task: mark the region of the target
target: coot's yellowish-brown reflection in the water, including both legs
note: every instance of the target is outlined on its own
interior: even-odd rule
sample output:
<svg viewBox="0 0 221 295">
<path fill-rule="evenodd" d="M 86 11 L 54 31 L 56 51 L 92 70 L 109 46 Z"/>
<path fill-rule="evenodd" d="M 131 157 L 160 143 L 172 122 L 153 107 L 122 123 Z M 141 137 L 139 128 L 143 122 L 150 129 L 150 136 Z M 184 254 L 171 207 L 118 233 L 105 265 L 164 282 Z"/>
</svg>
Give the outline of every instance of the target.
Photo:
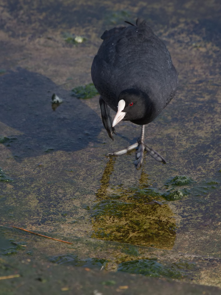
<svg viewBox="0 0 221 295">
<path fill-rule="evenodd" d="M 109 159 L 100 180 L 101 186 L 96 194 L 98 203 L 94 206 L 92 237 L 172 249 L 176 224 L 168 203 L 150 187 L 144 169 L 137 186 L 110 187 L 114 162 L 114 158 Z"/>
</svg>

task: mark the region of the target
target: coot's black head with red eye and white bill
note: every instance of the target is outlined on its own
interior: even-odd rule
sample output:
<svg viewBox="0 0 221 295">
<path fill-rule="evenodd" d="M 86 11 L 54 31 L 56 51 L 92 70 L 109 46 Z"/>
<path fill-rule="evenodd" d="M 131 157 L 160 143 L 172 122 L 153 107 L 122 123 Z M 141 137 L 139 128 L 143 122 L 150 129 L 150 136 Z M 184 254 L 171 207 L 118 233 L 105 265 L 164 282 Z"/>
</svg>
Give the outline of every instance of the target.
<svg viewBox="0 0 221 295">
<path fill-rule="evenodd" d="M 113 120 L 114 127 L 122 119 L 123 121 L 138 121 L 143 124 L 142 120 L 151 112 L 152 105 L 149 96 L 138 89 L 123 90 L 118 97 L 118 111 Z"/>
</svg>

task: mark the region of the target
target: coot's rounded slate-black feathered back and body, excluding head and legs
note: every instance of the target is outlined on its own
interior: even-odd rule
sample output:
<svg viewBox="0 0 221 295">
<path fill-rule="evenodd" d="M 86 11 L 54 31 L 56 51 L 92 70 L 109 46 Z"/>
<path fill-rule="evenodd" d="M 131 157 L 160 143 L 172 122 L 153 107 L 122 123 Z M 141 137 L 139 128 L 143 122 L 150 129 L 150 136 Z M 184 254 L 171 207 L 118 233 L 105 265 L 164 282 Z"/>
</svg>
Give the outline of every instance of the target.
<svg viewBox="0 0 221 295">
<path fill-rule="evenodd" d="M 137 26 L 113 28 L 105 31 L 101 39 L 103 43 L 91 68 L 96 89 L 115 111 L 121 91 L 144 91 L 156 106 L 151 122 L 177 88 L 177 72 L 166 45 L 139 19 Z"/>
</svg>

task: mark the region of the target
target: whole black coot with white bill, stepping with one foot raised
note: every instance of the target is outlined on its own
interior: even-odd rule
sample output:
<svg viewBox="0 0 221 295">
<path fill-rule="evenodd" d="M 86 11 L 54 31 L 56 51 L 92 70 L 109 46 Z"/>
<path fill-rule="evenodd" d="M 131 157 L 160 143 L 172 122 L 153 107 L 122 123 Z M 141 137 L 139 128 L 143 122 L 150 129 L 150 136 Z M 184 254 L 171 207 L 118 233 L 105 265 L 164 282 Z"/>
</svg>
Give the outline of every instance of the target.
<svg viewBox="0 0 221 295">
<path fill-rule="evenodd" d="M 174 97 L 178 79 L 166 45 L 146 22 L 137 19 L 136 26 L 128 24 L 103 33 L 91 77 L 100 94 L 102 122 L 110 138 L 121 120 L 142 125 L 138 142 L 110 154 L 121 155 L 138 147 L 134 163 L 139 168 L 144 150 L 166 163 L 144 143 L 144 125 L 153 121 Z M 117 112 L 113 123 L 108 106 Z"/>
</svg>

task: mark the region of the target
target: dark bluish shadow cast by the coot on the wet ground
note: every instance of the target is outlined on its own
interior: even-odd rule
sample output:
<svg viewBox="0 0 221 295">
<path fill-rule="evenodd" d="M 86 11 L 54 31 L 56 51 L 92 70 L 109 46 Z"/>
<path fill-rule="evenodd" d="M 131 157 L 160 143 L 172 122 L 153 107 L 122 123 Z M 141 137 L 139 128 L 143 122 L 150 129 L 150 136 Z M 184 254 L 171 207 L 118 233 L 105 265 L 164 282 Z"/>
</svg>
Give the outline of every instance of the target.
<svg viewBox="0 0 221 295">
<path fill-rule="evenodd" d="M 52 110 L 53 93 L 63 103 Z M 23 135 L 1 137 L 16 159 L 63 150 L 76 151 L 96 141 L 98 115 L 49 78 L 19 68 L 0 77 L 0 121 Z M 0 131 L 0 136 L 1 136 Z"/>
</svg>

